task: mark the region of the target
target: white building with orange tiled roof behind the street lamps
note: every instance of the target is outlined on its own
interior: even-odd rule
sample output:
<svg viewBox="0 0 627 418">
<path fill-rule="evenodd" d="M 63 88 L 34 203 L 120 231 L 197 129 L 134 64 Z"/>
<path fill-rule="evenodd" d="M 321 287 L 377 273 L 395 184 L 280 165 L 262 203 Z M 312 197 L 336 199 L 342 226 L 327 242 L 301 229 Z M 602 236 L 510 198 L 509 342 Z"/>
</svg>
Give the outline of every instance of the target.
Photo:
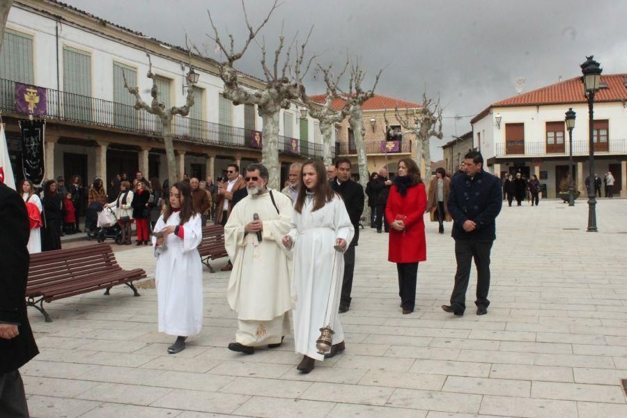
<svg viewBox="0 0 627 418">
<path fill-rule="evenodd" d="M 594 171 L 616 179 L 614 195 L 627 196 L 627 75 L 604 75 L 594 100 Z M 573 162 L 576 188 L 585 194 L 589 173 L 588 106 L 578 78 L 539 88 L 491 104 L 472 119 L 474 147 L 486 169 L 535 174 L 554 198 L 568 175 L 571 141 L 564 123 L 569 108 L 576 112 Z M 605 194 L 603 194 L 605 196 Z"/>
</svg>

